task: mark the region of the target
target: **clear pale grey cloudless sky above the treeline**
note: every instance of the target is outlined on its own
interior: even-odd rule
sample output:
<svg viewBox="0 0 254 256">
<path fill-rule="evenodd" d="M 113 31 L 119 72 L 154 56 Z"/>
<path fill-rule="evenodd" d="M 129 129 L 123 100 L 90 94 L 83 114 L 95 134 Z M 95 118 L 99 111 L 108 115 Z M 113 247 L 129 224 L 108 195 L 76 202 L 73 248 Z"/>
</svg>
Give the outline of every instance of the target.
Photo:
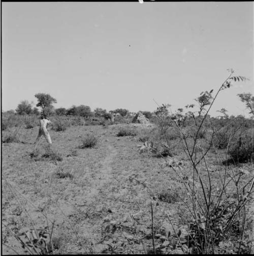
<svg viewBox="0 0 254 256">
<path fill-rule="evenodd" d="M 248 116 L 253 92 L 253 2 L 2 3 L 2 111 L 36 93 L 55 108 L 172 110 L 221 91 L 210 114 Z M 156 101 L 156 103 L 155 103 Z"/>
</svg>

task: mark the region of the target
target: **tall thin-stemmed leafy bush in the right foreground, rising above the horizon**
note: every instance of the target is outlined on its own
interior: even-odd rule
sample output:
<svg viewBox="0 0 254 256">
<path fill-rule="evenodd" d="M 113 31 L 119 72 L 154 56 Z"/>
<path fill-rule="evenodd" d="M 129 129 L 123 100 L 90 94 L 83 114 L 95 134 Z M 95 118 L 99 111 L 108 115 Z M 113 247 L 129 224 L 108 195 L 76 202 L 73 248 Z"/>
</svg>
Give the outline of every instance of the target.
<svg viewBox="0 0 254 256">
<path fill-rule="evenodd" d="M 233 76 L 233 70 L 220 86 L 215 96 L 212 97 L 211 90 L 205 92 L 202 99 L 207 99 L 206 104 L 201 104 L 199 111 L 200 120 L 195 119 L 195 134 L 190 136 L 192 143 L 189 143 L 187 136 L 182 127 L 174 120 L 177 127 L 183 150 L 192 164 L 192 178 L 185 178 L 182 172 L 181 162 L 168 162 L 166 166 L 172 168 L 183 184 L 186 191 L 186 198 L 182 198 L 184 218 L 182 218 L 183 228 L 181 232 L 176 232 L 171 218 L 168 216 L 169 222 L 172 224 L 175 236 L 178 240 L 178 247 L 183 253 L 249 253 L 250 246 L 245 240 L 245 231 L 247 229 L 246 222 L 248 203 L 251 199 L 251 193 L 254 186 L 254 177 L 249 180 L 243 178 L 243 173 L 236 170 L 230 170 L 227 166 L 221 164 L 217 158 L 217 171 L 219 179 L 216 179 L 216 186 L 213 184 L 211 168 L 207 162 L 207 153 L 209 152 L 213 138 L 214 129 L 210 135 L 210 142 L 207 148 L 203 148 L 199 143 L 200 133 L 204 129 L 204 123 L 207 115 L 221 90 L 231 87 L 233 81 L 245 81 L 243 76 Z M 205 96 L 208 95 L 209 98 Z M 208 110 L 204 106 L 209 106 Z M 204 112 L 204 116 L 201 113 Z M 194 113 L 193 113 L 193 117 Z M 207 127 L 206 127 L 207 128 Z M 212 127 L 211 127 L 212 128 Z M 234 156 L 238 161 L 246 160 L 251 153 L 253 154 L 253 137 L 241 139 L 241 145 L 235 146 L 229 150 L 230 155 Z M 248 143 L 247 143 L 248 141 Z M 247 157 L 248 156 L 248 157 Z M 180 216 L 179 216 L 180 217 Z M 228 246 L 230 244 L 232 246 Z M 154 248 L 155 251 L 155 248 Z"/>
</svg>

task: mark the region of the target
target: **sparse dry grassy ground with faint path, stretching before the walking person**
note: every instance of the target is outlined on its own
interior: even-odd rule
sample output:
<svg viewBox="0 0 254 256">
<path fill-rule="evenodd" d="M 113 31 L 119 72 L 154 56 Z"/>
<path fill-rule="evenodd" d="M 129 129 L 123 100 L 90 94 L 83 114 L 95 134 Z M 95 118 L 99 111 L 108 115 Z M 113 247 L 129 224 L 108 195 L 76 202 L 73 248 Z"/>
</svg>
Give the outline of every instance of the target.
<svg viewBox="0 0 254 256">
<path fill-rule="evenodd" d="M 2 233 L 3 243 L 8 245 L 3 246 L 3 254 L 24 253 L 11 231 L 17 234 L 45 227 L 47 221 L 49 226 L 54 222 L 54 253 L 150 252 L 151 202 L 154 234 L 170 229 L 168 216 L 176 228 L 181 226 L 183 185 L 171 168 L 162 168 L 163 158 L 138 151 L 139 138 L 151 127 L 132 125 L 136 136 L 118 137 L 121 126 L 50 131 L 53 150 L 62 157 L 58 162 L 42 157 L 47 146 L 44 138 L 37 147 L 38 156 L 31 157 L 38 127 L 21 128 L 20 142 L 2 144 Z M 4 131 L 3 137 L 8 133 Z M 82 138 L 92 133 L 99 139 L 96 147 L 80 148 Z M 174 159 L 182 162 L 188 176 L 190 164 L 181 149 L 177 150 Z M 216 184 L 219 177 L 213 153 L 209 165 Z M 242 168 L 246 180 L 253 176 L 251 165 Z M 155 247 L 172 252 L 161 246 L 164 242 L 155 237 Z"/>
</svg>

